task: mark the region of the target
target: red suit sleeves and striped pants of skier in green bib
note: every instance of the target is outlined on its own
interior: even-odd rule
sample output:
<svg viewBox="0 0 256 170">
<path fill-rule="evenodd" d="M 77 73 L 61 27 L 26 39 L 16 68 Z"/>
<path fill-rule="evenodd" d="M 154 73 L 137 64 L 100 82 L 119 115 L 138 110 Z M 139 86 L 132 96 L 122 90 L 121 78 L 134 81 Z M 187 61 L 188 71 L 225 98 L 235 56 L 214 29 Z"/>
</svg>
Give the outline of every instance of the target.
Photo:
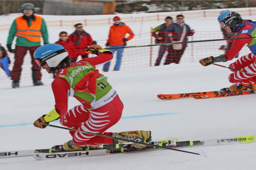
<svg viewBox="0 0 256 170">
<path fill-rule="evenodd" d="M 98 65 L 109 62 L 112 58 L 113 54 L 101 53 L 99 56 L 85 58 L 82 61 L 86 61 L 96 68 Z M 124 107 L 118 95 L 116 95 L 112 101 L 96 109 L 88 110 L 82 104 L 75 106 L 68 111 L 69 83 L 63 78 L 55 78 L 52 82 L 52 90 L 56 103 L 55 109 L 60 115 L 60 123 L 62 125 L 72 129 L 111 136 L 112 133 L 105 132 L 105 130 L 109 129 L 119 121 Z M 73 137 L 73 143 L 79 146 L 113 144 L 113 141 L 110 138 L 74 131 L 70 131 L 70 134 Z"/>
</svg>

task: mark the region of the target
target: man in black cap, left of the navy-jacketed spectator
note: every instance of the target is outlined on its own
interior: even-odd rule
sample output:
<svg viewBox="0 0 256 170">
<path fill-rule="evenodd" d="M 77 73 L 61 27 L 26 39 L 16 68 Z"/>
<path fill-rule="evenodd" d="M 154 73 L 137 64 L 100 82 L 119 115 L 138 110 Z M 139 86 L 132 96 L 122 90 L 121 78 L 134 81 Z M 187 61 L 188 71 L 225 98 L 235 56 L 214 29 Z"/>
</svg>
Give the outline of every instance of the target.
<svg viewBox="0 0 256 170">
<path fill-rule="evenodd" d="M 172 24 L 172 17 L 170 17 L 170 16 L 166 17 L 165 21 L 166 21 L 165 23 L 163 23 L 151 30 L 152 36 L 154 36 L 156 38 L 156 40 L 155 40 L 156 44 L 165 44 L 165 39 L 166 39 L 165 29 L 170 24 Z M 158 32 L 158 34 L 156 34 L 156 32 Z M 167 51 L 167 50 L 168 50 L 167 46 L 165 46 L 165 45 L 160 46 L 155 66 L 160 65 L 161 59 L 162 59 L 163 55 L 165 54 L 165 51 Z"/>
</svg>

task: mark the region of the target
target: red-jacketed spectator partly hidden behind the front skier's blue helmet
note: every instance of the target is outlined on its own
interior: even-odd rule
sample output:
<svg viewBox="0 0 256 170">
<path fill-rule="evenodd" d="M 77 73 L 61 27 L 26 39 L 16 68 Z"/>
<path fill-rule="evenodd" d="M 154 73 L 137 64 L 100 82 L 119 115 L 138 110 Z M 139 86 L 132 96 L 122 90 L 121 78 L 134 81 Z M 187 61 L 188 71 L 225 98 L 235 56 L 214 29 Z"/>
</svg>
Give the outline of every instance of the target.
<svg viewBox="0 0 256 170">
<path fill-rule="evenodd" d="M 68 39 L 68 33 L 66 31 L 61 31 L 59 33 L 59 37 L 59 40 L 56 41 L 55 44 L 59 44 L 68 50 L 70 60 L 75 61 L 77 58 L 75 47 L 74 44 Z"/>
</svg>

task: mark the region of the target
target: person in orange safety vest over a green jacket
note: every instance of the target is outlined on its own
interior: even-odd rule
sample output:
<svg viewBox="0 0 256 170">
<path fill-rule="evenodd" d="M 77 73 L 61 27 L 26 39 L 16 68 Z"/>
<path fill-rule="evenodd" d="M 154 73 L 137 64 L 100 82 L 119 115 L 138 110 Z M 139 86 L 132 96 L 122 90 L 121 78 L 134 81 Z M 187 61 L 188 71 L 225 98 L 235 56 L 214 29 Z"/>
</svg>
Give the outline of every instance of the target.
<svg viewBox="0 0 256 170">
<path fill-rule="evenodd" d="M 41 37 L 44 44 L 48 44 L 48 32 L 42 17 L 34 15 L 34 4 L 25 3 L 21 6 L 23 16 L 17 17 L 10 28 L 7 39 L 7 48 L 14 53 L 14 66 L 11 71 L 12 88 L 19 87 L 22 64 L 27 50 L 32 58 L 32 79 L 34 86 L 43 85 L 41 82 L 41 68 L 33 60 L 34 51 L 41 45 Z M 12 41 L 17 36 L 15 49 L 12 49 Z"/>
</svg>

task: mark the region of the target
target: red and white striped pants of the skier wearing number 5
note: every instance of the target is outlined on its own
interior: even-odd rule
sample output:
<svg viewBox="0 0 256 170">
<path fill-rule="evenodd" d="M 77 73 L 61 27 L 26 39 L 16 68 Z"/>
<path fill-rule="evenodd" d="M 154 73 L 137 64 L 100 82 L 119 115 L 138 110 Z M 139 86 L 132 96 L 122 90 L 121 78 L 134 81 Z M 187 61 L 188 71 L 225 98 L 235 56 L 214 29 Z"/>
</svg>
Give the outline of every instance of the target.
<svg viewBox="0 0 256 170">
<path fill-rule="evenodd" d="M 111 102 L 93 110 L 88 110 L 83 105 L 75 106 L 69 110 L 67 115 L 60 118 L 60 123 L 68 128 L 111 136 L 111 132 L 105 131 L 120 120 L 123 107 L 122 101 L 116 95 Z M 75 145 L 113 144 L 110 138 L 75 131 L 70 131 L 69 133 L 73 137 Z"/>
</svg>

